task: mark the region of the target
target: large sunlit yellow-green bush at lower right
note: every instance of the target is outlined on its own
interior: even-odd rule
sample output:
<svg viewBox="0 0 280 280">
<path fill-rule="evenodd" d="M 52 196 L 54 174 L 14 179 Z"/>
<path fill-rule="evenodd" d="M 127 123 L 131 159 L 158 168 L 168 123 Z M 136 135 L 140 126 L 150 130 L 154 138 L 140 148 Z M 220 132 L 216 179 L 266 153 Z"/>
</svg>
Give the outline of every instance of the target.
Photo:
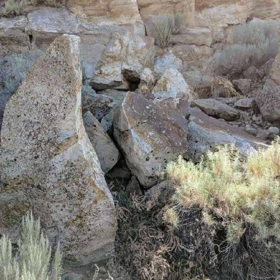
<svg viewBox="0 0 280 280">
<path fill-rule="evenodd" d="M 208 151 L 197 165 L 179 157 L 166 172 L 178 207 L 201 209 L 201 220 L 219 232 L 225 274 L 279 276 L 280 138 L 246 159 L 233 146 Z"/>
</svg>

